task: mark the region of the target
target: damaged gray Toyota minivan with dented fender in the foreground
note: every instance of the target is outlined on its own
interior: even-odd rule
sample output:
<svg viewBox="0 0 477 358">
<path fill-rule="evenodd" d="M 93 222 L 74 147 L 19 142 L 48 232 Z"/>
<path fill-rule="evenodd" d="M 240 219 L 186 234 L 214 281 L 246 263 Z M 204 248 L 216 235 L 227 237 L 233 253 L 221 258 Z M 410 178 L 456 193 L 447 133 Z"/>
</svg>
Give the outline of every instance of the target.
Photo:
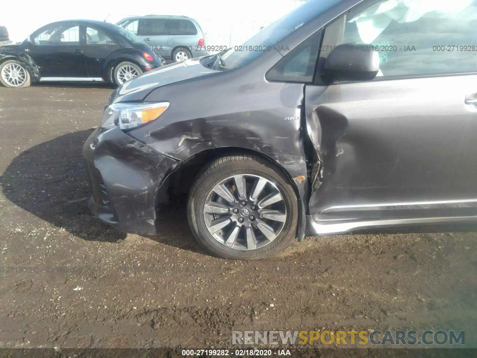
<svg viewBox="0 0 477 358">
<path fill-rule="evenodd" d="M 475 221 L 476 15 L 475 0 L 309 0 L 241 46 L 126 82 L 83 147 L 91 210 L 154 235 L 188 193 L 192 233 L 229 259 Z"/>
</svg>

